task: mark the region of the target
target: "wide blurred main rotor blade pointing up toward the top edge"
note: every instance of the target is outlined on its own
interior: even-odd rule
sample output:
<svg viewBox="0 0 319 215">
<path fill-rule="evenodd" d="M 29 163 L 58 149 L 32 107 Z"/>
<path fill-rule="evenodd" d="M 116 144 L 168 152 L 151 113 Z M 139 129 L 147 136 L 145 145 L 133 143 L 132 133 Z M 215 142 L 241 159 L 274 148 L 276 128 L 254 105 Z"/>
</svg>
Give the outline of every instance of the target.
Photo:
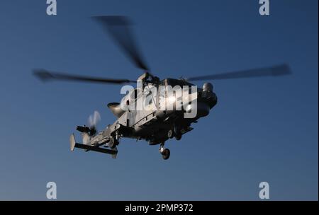
<svg viewBox="0 0 319 215">
<path fill-rule="evenodd" d="M 93 16 L 94 20 L 98 21 L 111 34 L 113 40 L 116 41 L 125 54 L 128 55 L 131 61 L 138 68 L 145 71 L 150 71 L 144 59 L 142 59 L 140 50 L 136 45 L 136 40 L 133 36 L 130 25 L 132 23 L 125 16 Z"/>
</svg>

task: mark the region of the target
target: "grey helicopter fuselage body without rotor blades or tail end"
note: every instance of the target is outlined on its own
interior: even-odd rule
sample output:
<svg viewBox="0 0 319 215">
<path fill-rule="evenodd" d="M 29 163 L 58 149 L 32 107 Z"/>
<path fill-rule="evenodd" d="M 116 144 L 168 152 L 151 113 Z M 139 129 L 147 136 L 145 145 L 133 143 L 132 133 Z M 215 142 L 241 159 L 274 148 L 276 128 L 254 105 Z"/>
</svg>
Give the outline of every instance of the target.
<svg viewBox="0 0 319 215">
<path fill-rule="evenodd" d="M 164 79 L 158 84 L 149 83 L 149 86 L 157 88 L 155 98 L 161 96 L 159 86 L 194 86 L 184 80 L 179 79 Z M 201 117 L 209 114 L 211 108 L 216 105 L 217 97 L 213 93 L 211 83 L 204 83 L 203 88 L 197 88 L 196 96 L 196 115 L 191 118 L 184 117 L 184 112 L 190 111 L 182 108 L 181 110 L 159 110 L 161 100 L 155 99 L 155 110 L 123 110 L 121 103 L 130 104 L 138 100 L 136 89 L 134 93 L 128 93 L 121 100 L 121 103 L 108 103 L 108 108 L 111 109 L 114 115 L 118 118 L 116 122 L 108 125 L 102 136 L 113 136 L 115 139 L 128 137 L 133 139 L 145 139 L 150 145 L 162 144 L 167 139 L 175 136 L 176 139 L 181 139 L 181 135 L 191 131 L 191 123 L 197 122 Z M 167 94 L 164 94 L 164 96 Z M 148 95 L 152 96 L 152 95 Z M 191 96 L 190 96 L 191 98 Z M 168 102 L 168 98 L 162 101 Z M 179 98 L 176 98 L 179 100 Z M 192 102 L 192 101 L 191 101 Z M 175 107 L 174 107 L 175 108 Z M 170 133 L 169 133 L 170 132 Z M 98 138 L 100 139 L 100 138 Z M 92 139 L 93 140 L 93 139 Z"/>
</svg>

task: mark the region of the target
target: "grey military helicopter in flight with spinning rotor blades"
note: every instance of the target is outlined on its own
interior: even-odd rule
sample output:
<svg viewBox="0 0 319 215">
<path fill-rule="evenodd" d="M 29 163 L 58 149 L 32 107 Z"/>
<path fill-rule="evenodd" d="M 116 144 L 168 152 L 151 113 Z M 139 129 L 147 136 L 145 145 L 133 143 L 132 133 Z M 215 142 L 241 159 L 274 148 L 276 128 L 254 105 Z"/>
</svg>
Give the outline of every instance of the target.
<svg viewBox="0 0 319 215">
<path fill-rule="evenodd" d="M 212 74 L 206 76 L 194 76 L 183 79 L 162 79 L 150 72 L 150 68 L 142 59 L 140 50 L 136 45 L 133 37 L 133 31 L 130 26 L 128 17 L 125 16 L 94 16 L 94 21 L 105 28 L 105 30 L 111 35 L 113 40 L 119 47 L 125 52 L 128 58 L 137 66 L 142 69 L 144 73 L 138 78 L 138 83 L 141 83 L 142 89 L 152 88 L 158 89 L 159 86 L 194 86 L 189 81 L 204 81 L 204 80 L 218 80 L 218 79 L 240 79 L 260 76 L 283 76 L 291 74 L 289 66 L 287 64 L 280 64 L 276 66 L 270 66 L 260 69 L 249 69 L 244 71 L 234 71 L 223 74 Z M 35 69 L 33 74 L 42 81 L 85 81 L 92 83 L 108 83 L 108 84 L 125 84 L 136 83 L 135 80 L 128 79 L 106 79 L 93 76 L 79 76 L 74 74 L 65 74 L 56 71 L 47 71 L 45 69 Z M 193 128 L 192 123 L 198 122 L 201 117 L 206 117 L 210 110 L 217 103 L 217 96 L 213 92 L 213 85 L 211 83 L 203 83 L 202 88 L 197 88 L 196 92 L 196 116 L 192 118 L 185 118 L 184 113 L 189 112 L 192 108 L 191 105 L 187 105 L 187 108 L 181 108 L 181 110 L 159 110 L 156 109 L 159 102 L 159 97 L 164 98 L 164 102 L 168 102 L 170 98 L 167 93 L 161 94 L 161 91 L 157 91 L 157 98 L 155 95 L 147 93 L 146 97 L 152 97 L 151 103 L 155 106 L 155 109 L 151 110 L 123 110 L 121 108 L 124 105 L 134 102 L 138 99 L 137 88 L 133 89 L 123 97 L 121 103 L 108 103 L 108 108 L 116 116 L 117 120 L 113 124 L 109 124 L 101 132 L 96 130 L 96 119 L 99 118 L 99 114 L 94 114 L 91 118 L 89 126 L 77 126 L 77 131 L 82 133 L 83 143 L 77 143 L 74 134 L 69 137 L 69 144 L 71 151 L 74 148 L 84 149 L 85 151 L 98 151 L 101 153 L 111 154 L 112 158 L 116 158 L 118 153 L 117 146 L 120 143 L 120 139 L 123 137 L 133 139 L 144 139 L 148 141 L 150 145 L 159 144 L 159 153 L 164 160 L 167 160 L 170 156 L 169 149 L 164 148 L 164 142 L 168 139 L 175 138 L 181 139 L 181 136 L 190 132 Z M 175 95 L 176 97 L 176 95 Z M 174 100 L 177 100 L 175 98 Z M 85 138 L 84 138 L 85 137 Z"/>
</svg>

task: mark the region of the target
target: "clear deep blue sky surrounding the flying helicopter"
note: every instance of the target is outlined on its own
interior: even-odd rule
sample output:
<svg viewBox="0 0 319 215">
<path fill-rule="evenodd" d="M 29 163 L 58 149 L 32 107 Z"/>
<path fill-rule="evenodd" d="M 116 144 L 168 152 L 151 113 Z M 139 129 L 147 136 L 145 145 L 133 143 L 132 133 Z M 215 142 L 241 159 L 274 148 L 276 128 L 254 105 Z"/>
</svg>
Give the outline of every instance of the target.
<svg viewBox="0 0 319 215">
<path fill-rule="evenodd" d="M 61 1 L 0 3 L 0 199 L 318 199 L 318 1 Z M 121 86 L 41 83 L 33 68 L 136 79 L 90 16 L 125 15 L 152 71 L 166 77 L 288 63 L 293 75 L 213 81 L 218 105 L 166 146 L 122 139 L 118 158 L 69 151 L 69 135 L 94 110 L 99 128 Z M 195 82 L 199 86 L 201 81 Z M 77 139 L 80 136 L 77 134 Z"/>
</svg>

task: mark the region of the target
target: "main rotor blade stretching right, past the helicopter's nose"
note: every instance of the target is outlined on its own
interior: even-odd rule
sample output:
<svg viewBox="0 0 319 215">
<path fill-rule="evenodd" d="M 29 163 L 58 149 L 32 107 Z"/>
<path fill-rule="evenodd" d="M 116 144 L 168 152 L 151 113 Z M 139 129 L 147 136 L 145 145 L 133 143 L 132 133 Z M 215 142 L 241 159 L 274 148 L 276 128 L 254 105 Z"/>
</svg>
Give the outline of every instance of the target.
<svg viewBox="0 0 319 215">
<path fill-rule="evenodd" d="M 222 74 L 214 74 L 208 76 L 194 76 L 186 79 L 187 81 L 199 80 L 220 80 L 220 79 L 242 79 L 262 76 L 284 76 L 291 74 L 291 70 L 287 64 L 276 65 L 259 69 L 248 69 L 242 71 L 233 71 Z"/>
</svg>

